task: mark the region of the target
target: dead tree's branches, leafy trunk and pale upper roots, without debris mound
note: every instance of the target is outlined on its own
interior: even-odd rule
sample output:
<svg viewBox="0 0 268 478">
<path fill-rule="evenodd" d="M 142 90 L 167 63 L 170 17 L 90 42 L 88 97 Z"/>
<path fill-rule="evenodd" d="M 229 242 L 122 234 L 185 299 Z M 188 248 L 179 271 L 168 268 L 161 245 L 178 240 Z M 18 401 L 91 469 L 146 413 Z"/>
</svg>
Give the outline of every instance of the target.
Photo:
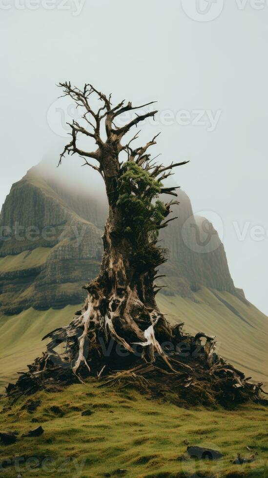
<svg viewBox="0 0 268 478">
<path fill-rule="evenodd" d="M 148 152 L 150 146 L 156 144 L 158 135 L 144 146 L 135 148 L 132 143 L 138 139 L 138 134 L 124 142 L 132 128 L 154 117 L 157 111 L 135 113 L 134 119 L 117 126 L 120 115 L 138 111 L 154 101 L 137 107 L 121 101 L 113 106 L 111 95 L 106 97 L 91 84 L 85 84 L 83 90 L 67 82 L 59 86 L 64 90 L 63 96 L 71 97 L 83 110 L 81 124 L 75 120 L 68 123 L 71 141 L 65 146 L 59 164 L 66 154 L 76 154 L 84 159 L 85 166 L 98 171 L 105 183 L 109 214 L 103 234 L 100 274 L 84 286 L 87 299 L 81 315 L 69 327 L 57 331 L 58 339 L 60 335 L 67 341 L 78 339 L 79 354 L 72 367 L 74 374 L 82 365 L 90 371 L 88 341 L 93 346 L 100 329 L 107 338 L 122 344 L 129 352 L 133 352 L 131 343 L 139 341 L 149 345 L 151 361 L 155 351 L 166 359 L 155 339 L 154 329 L 162 329 L 166 337 L 170 337 L 171 330 L 156 304 L 159 288 L 154 287 L 154 279 L 157 267 L 166 260 L 165 251 L 157 245 L 158 233 L 174 219 L 167 219 L 167 216 L 171 206 L 178 201 L 163 203 L 157 198 L 162 193 L 177 196 L 176 187 L 165 188 L 162 181 L 171 175 L 173 168 L 186 161 L 168 166 L 158 164 Z M 97 111 L 91 106 L 93 95 L 101 102 Z M 102 125 L 105 138 L 102 138 Z M 93 139 L 96 149 L 82 150 L 81 137 Z"/>
</svg>

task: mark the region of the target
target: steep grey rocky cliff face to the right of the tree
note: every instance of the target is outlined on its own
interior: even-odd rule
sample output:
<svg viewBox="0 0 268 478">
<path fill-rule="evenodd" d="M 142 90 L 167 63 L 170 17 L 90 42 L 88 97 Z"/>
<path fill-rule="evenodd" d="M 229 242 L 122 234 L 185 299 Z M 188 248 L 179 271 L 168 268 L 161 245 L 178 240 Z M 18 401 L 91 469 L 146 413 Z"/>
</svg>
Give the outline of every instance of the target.
<svg viewBox="0 0 268 478">
<path fill-rule="evenodd" d="M 162 234 L 168 248 L 166 280 L 170 283 L 172 278 L 173 287 L 177 283 L 178 292 L 186 297 L 201 285 L 233 293 L 224 245 L 217 231 L 206 218 L 193 215 L 186 193 L 180 191 L 179 200 L 180 206 L 174 211 L 179 217 Z"/>
</svg>

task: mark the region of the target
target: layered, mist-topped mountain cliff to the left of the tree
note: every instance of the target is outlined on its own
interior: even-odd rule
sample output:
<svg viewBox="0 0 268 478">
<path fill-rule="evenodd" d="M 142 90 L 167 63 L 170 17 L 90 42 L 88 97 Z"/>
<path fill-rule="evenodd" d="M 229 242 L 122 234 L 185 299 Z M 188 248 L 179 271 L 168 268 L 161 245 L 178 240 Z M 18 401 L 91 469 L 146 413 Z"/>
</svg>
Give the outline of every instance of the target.
<svg viewBox="0 0 268 478">
<path fill-rule="evenodd" d="M 98 274 L 102 258 L 105 207 L 90 195 L 69 195 L 39 173 L 33 168 L 14 184 L 1 210 L 4 314 L 80 303 L 81 287 Z"/>
</svg>

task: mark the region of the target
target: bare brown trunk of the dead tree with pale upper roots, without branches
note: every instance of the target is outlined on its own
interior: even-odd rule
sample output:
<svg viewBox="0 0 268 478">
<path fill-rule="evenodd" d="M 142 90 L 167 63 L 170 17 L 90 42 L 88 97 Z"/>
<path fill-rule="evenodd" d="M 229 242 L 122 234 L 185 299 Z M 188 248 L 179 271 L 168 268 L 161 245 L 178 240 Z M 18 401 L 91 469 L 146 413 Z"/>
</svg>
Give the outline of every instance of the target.
<svg viewBox="0 0 268 478">
<path fill-rule="evenodd" d="M 118 204 L 121 178 L 118 152 L 115 151 L 113 156 L 109 156 L 104 150 L 102 155 L 100 163 L 106 186 L 109 214 L 103 234 L 104 252 L 101 270 L 96 279 L 84 286 L 88 296 L 81 316 L 70 324 L 71 333 L 67 332 L 66 337 L 63 336 L 67 342 L 70 337 L 72 345 L 74 337 L 78 338 L 79 354 L 72 366 L 75 374 L 78 374 L 82 365 L 90 371 L 89 362 L 92 358 L 90 344 L 94 344 L 92 347 L 94 355 L 97 339 L 103 333 L 106 341 L 113 339 L 130 353 L 134 352 L 131 344 L 137 343 L 138 340 L 144 346 L 148 345 L 150 361 L 154 361 L 154 353 L 157 351 L 169 364 L 154 335 L 156 327 L 158 333 L 161 331 L 163 339 L 171 337 L 171 329 L 160 313 L 155 300 L 159 290 L 154 286 L 156 266 L 164 262 L 165 257 L 162 250 L 157 247 L 156 240 L 150 244 L 153 253 L 152 262 L 142 260 L 143 258 L 137 254 L 139 247 L 135 238 L 137 231 L 134 228 L 131 233 L 125 232 L 124 208 Z M 166 212 L 169 212 L 169 205 Z M 144 239 L 149 241 L 146 236 Z M 149 328 L 148 342 L 144 332 Z M 51 337 L 53 339 L 53 333 Z M 55 345 L 54 341 L 52 345 Z M 72 360 L 75 352 L 72 347 L 70 350 Z M 170 368 L 172 369 L 171 365 Z"/>
</svg>

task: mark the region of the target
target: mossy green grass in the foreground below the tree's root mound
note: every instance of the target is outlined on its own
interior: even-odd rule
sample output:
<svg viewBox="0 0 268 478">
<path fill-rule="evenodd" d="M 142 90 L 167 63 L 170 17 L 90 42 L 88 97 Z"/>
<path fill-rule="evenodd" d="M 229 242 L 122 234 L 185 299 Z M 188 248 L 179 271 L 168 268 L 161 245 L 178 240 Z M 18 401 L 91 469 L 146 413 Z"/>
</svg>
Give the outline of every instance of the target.
<svg viewBox="0 0 268 478">
<path fill-rule="evenodd" d="M 117 476 L 118 469 L 125 469 L 126 477 L 268 476 L 268 408 L 264 406 L 185 409 L 135 390 L 100 388 L 95 380 L 59 393 L 41 392 L 33 399 L 41 401 L 33 413 L 23 408 L 29 398 L 0 413 L 0 431 L 18 431 L 21 436 L 39 425 L 45 430 L 39 438 L 19 436 L 13 445 L 0 445 L 2 460 L 16 455 L 28 459 L 26 468 L 22 461 L 20 469 L 5 468 L 4 477 L 21 471 L 23 477 L 93 478 Z M 2 400 L 0 409 L 7 405 Z M 88 409 L 92 415 L 82 417 Z M 196 463 L 187 457 L 185 439 L 190 445 L 218 449 L 224 458 Z M 247 445 L 258 451 L 257 460 L 232 465 L 230 460 L 238 452 L 249 455 Z M 36 463 L 44 457 L 55 461 L 46 465 L 50 472 L 30 469 L 31 457 Z"/>
</svg>

